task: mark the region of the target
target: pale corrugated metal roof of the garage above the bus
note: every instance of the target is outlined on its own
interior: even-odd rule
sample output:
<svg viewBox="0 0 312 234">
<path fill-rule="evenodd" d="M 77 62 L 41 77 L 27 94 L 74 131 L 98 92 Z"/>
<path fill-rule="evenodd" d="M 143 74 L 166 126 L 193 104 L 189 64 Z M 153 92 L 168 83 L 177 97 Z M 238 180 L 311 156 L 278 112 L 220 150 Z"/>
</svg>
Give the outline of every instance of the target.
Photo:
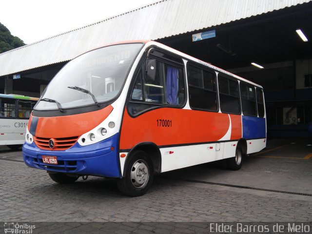
<svg viewBox="0 0 312 234">
<path fill-rule="evenodd" d="M 311 0 L 162 0 L 0 54 L 0 76 L 75 58 L 108 43 L 161 39 Z"/>
</svg>

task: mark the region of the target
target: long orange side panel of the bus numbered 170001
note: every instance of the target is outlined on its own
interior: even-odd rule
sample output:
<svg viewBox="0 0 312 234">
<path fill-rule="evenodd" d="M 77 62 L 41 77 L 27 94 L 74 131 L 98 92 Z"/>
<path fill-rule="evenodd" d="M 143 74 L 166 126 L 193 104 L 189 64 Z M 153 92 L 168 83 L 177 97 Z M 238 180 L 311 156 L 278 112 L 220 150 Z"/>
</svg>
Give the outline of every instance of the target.
<svg viewBox="0 0 312 234">
<path fill-rule="evenodd" d="M 160 119 L 167 120 L 167 123 L 168 120 L 171 121 L 170 126 L 162 126 L 162 123 L 160 125 Z M 234 119 L 236 121 L 236 118 Z M 159 108 L 132 118 L 125 110 L 120 149 L 131 149 L 140 142 L 148 141 L 156 145 L 217 141 L 227 133 L 229 126 L 228 114 Z M 236 132 L 236 127 L 234 129 Z"/>
</svg>

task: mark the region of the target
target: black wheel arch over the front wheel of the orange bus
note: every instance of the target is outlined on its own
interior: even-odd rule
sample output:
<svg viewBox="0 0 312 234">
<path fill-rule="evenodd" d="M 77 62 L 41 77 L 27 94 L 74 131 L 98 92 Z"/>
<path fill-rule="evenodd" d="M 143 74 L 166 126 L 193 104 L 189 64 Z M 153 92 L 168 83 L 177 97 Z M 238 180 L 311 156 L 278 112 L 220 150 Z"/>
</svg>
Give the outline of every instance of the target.
<svg viewBox="0 0 312 234">
<path fill-rule="evenodd" d="M 149 158 L 151 159 L 153 163 L 154 172 L 156 173 L 161 172 L 161 153 L 160 153 L 158 146 L 153 142 L 141 142 L 141 143 L 138 143 L 135 147 L 133 147 L 128 153 L 128 156 L 126 158 L 125 165 L 123 168 L 123 175 L 125 175 L 126 168 L 131 159 L 131 155 L 135 151 L 144 151 L 149 156 Z"/>
</svg>

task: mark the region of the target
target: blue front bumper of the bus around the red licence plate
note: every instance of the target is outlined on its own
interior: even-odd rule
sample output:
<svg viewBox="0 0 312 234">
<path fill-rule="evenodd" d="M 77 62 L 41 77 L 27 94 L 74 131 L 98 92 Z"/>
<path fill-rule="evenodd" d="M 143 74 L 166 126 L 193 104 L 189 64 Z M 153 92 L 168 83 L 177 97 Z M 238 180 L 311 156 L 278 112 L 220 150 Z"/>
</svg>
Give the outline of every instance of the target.
<svg viewBox="0 0 312 234">
<path fill-rule="evenodd" d="M 117 142 L 118 134 L 98 143 L 80 146 L 78 142 L 70 149 L 51 151 L 39 149 L 36 144 L 23 145 L 23 159 L 27 166 L 42 170 L 90 176 L 121 177 Z M 112 150 L 112 147 L 114 149 Z M 42 156 L 57 156 L 58 164 L 46 164 Z"/>
</svg>

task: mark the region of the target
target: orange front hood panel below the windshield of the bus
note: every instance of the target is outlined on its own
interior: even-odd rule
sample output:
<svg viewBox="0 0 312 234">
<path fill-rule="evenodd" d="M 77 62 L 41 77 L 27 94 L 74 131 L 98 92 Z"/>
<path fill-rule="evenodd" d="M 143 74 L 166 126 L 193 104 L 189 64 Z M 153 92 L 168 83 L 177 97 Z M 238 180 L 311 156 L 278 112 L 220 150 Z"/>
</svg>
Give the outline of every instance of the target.
<svg viewBox="0 0 312 234">
<path fill-rule="evenodd" d="M 39 117 L 36 137 L 62 138 L 81 136 L 89 132 L 112 112 L 111 105 L 93 112 L 59 116 L 59 117 Z"/>
</svg>

